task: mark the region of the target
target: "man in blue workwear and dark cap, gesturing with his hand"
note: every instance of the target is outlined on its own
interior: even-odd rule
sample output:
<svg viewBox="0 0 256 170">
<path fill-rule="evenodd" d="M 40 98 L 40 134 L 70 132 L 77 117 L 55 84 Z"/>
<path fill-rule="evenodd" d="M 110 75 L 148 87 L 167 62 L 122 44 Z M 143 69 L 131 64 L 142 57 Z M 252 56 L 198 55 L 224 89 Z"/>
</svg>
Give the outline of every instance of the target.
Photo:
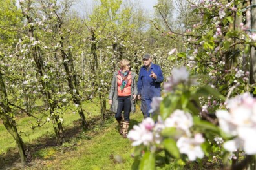
<svg viewBox="0 0 256 170">
<path fill-rule="evenodd" d="M 149 110 L 153 97 L 160 97 L 160 84 L 164 77 L 160 66 L 153 64 L 151 56 L 145 54 L 142 58 L 144 66 L 140 68 L 138 77 L 138 99 L 141 100 L 141 110 L 144 118 L 150 117 Z"/>
</svg>

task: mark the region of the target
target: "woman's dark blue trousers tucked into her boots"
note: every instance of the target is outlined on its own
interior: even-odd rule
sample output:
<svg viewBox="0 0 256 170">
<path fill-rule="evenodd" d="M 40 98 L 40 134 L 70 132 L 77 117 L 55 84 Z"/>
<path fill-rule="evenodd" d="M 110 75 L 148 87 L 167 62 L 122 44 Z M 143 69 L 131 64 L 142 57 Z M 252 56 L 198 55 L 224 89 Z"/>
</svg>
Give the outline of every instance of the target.
<svg viewBox="0 0 256 170">
<path fill-rule="evenodd" d="M 118 109 L 116 115 L 114 115 L 117 121 L 122 120 L 122 111 L 123 119 L 129 122 L 131 112 L 131 96 L 118 96 Z"/>
</svg>

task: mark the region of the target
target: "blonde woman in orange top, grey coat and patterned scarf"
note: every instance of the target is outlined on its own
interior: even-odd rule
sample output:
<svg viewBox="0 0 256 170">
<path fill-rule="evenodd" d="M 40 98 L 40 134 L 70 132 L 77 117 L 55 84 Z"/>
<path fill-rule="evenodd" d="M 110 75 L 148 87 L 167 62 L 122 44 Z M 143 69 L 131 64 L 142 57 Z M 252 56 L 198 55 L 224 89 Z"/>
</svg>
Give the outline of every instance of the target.
<svg viewBox="0 0 256 170">
<path fill-rule="evenodd" d="M 120 135 L 126 138 L 130 122 L 130 112 L 135 112 L 137 87 L 135 73 L 130 71 L 130 62 L 122 59 L 117 72 L 114 72 L 111 90 L 109 92 L 109 104 L 111 111 L 116 113 L 115 118 L 120 125 Z M 123 111 L 123 119 L 122 119 Z"/>
</svg>

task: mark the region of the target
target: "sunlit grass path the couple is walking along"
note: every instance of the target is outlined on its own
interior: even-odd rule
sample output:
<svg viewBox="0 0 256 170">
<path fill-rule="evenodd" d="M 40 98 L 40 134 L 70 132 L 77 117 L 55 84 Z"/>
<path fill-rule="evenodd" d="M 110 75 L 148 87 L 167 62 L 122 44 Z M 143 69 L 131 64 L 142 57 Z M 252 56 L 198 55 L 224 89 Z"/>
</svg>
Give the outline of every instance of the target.
<svg viewBox="0 0 256 170">
<path fill-rule="evenodd" d="M 53 159 L 45 160 L 43 169 L 131 169 L 131 142 L 118 133 L 118 124 L 113 122 L 98 130 L 91 139 L 74 139 L 69 142 L 69 151 L 53 151 Z M 140 113 L 131 114 L 131 126 L 142 121 Z M 84 134 L 86 137 L 86 133 Z M 71 146 L 70 146 L 71 145 Z M 74 146 L 72 146 L 74 145 Z M 58 150 L 56 147 L 54 150 Z M 48 149 L 49 151 L 49 149 Z M 34 169 L 35 167 L 30 167 Z M 29 169 L 30 169 L 29 168 Z"/>
</svg>

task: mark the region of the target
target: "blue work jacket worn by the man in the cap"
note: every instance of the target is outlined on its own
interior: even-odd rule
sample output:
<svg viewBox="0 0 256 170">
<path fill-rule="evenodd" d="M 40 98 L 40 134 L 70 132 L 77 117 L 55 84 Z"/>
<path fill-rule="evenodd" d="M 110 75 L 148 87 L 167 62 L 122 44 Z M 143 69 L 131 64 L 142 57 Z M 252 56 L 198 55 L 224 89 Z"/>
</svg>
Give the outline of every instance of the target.
<svg viewBox="0 0 256 170">
<path fill-rule="evenodd" d="M 153 71 L 157 78 L 154 79 L 150 77 L 151 71 Z M 138 94 L 142 95 L 142 98 L 152 99 L 153 97 L 160 97 L 160 84 L 164 81 L 162 70 L 160 66 L 151 63 L 151 67 L 147 71 L 145 66 L 140 68 L 140 73 L 138 77 Z"/>
</svg>

